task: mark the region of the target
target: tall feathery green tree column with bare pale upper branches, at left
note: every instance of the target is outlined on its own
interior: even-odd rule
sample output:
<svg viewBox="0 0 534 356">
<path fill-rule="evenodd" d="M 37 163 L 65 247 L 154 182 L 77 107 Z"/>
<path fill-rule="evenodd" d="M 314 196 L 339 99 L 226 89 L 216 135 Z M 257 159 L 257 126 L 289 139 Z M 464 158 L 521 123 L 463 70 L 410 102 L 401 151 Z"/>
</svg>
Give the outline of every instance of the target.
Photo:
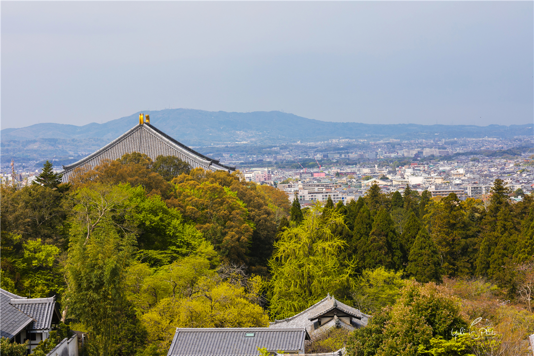
<svg viewBox="0 0 534 356">
<path fill-rule="evenodd" d="M 93 184 L 73 196 L 66 266 L 68 316 L 88 329 L 88 353 L 133 355 L 145 342 L 124 284 L 136 245 L 127 185 Z"/>
</svg>

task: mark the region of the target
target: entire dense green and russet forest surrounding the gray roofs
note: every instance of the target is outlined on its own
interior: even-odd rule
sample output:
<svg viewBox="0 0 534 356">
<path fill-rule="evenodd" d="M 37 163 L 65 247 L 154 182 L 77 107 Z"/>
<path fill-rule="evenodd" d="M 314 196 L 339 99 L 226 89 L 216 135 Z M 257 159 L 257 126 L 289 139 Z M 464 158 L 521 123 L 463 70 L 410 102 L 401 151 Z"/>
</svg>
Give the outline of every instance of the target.
<svg viewBox="0 0 534 356">
<path fill-rule="evenodd" d="M 57 296 L 88 355 L 164 355 L 176 327 L 266 327 L 327 293 L 372 318 L 307 352 L 521 354 L 534 332 L 534 199 L 510 193 L 499 179 L 485 200 L 373 185 L 347 205 L 301 208 L 175 157 L 125 154 L 68 184 L 46 162 L 35 184 L 1 187 L 1 287 Z"/>
</svg>

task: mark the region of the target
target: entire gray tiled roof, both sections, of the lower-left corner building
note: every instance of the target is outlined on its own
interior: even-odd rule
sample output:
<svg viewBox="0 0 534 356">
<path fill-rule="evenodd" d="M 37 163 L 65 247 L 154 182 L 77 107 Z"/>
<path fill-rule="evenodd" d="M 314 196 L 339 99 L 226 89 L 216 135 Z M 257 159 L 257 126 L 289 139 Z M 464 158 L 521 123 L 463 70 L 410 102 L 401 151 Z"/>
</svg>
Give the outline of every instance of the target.
<svg viewBox="0 0 534 356">
<path fill-rule="evenodd" d="M 51 328 L 56 304 L 53 297 L 27 299 L 0 289 L 0 301 L 3 337 L 12 338 L 32 322 L 32 330 Z"/>
</svg>

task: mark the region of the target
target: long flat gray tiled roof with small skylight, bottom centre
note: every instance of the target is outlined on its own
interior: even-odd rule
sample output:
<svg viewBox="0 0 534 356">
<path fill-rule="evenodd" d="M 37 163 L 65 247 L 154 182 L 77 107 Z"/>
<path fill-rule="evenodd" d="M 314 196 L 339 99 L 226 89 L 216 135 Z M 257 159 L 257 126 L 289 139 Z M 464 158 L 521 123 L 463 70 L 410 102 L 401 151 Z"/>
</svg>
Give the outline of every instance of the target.
<svg viewBox="0 0 534 356">
<path fill-rule="evenodd" d="M 254 337 L 245 337 L 254 332 Z M 304 351 L 304 328 L 177 328 L 168 356 L 252 356 L 268 351 Z"/>
</svg>

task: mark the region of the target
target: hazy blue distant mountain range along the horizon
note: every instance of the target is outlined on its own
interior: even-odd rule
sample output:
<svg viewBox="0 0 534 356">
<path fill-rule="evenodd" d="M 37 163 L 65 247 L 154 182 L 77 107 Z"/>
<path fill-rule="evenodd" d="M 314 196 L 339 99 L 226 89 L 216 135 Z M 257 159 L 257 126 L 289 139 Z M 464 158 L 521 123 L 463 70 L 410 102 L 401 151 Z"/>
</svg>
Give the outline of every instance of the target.
<svg viewBox="0 0 534 356">
<path fill-rule="evenodd" d="M 380 125 L 356 122 L 326 122 L 302 118 L 280 111 L 224 112 L 193 109 L 144 111 L 152 125 L 176 140 L 192 146 L 210 144 L 281 144 L 332 138 L 387 139 L 421 138 L 436 135 L 454 137 L 532 136 L 533 124 L 526 125 Z M 83 156 L 111 142 L 138 124 L 139 112 L 106 123 L 84 126 L 38 123 L 0 131 L 2 162 L 17 157 L 35 157 L 33 151 L 46 151 L 61 157 Z M 433 136 L 436 137 L 436 136 Z M 56 139 L 56 140 L 53 140 Z M 55 150 L 55 151 L 54 151 Z M 32 153 L 33 152 L 33 153 Z M 43 152 L 44 153 L 44 152 Z"/>
</svg>

